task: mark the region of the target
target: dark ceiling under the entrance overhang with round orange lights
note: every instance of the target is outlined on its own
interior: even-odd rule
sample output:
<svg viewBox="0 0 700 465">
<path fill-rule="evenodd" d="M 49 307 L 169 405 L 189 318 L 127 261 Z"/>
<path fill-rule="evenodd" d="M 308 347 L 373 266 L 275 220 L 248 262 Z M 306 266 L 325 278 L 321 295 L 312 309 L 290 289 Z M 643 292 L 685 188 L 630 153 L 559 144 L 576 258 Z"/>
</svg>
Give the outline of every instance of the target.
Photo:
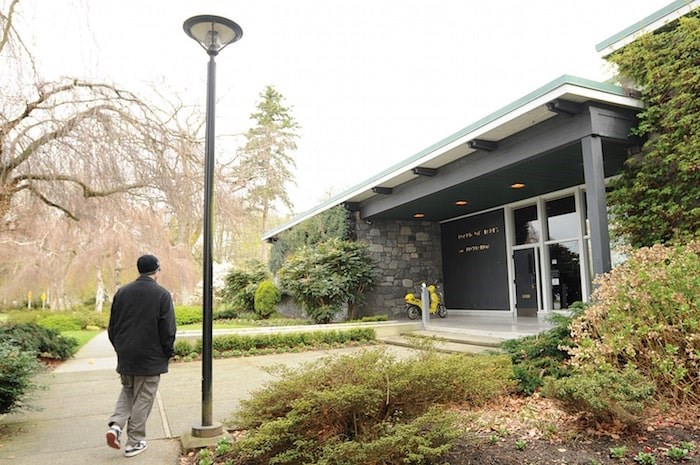
<svg viewBox="0 0 700 465">
<path fill-rule="evenodd" d="M 497 153 L 494 152 L 492 155 L 496 156 Z M 618 173 L 626 158 L 626 144 L 603 141 L 606 177 Z M 447 170 L 449 166 L 440 169 Z M 522 183 L 525 186 L 514 189 L 511 187 L 514 183 Z M 414 220 L 416 214 L 423 214 L 422 220 L 443 221 L 583 183 L 581 144 L 577 142 L 531 158 L 526 162 L 407 202 L 374 215 L 372 218 Z M 456 205 L 455 202 L 459 200 L 464 200 L 467 204 Z"/>
</svg>

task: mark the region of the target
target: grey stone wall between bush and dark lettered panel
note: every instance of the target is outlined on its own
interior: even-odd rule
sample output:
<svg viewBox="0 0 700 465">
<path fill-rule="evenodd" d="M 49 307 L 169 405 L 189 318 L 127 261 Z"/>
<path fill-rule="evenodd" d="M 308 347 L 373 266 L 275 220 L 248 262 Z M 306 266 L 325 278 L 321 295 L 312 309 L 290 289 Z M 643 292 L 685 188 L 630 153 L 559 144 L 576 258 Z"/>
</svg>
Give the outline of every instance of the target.
<svg viewBox="0 0 700 465">
<path fill-rule="evenodd" d="M 361 315 L 405 318 L 404 295 L 420 292 L 423 282 L 442 281 L 440 225 L 428 221 L 359 219 L 354 214 L 357 240 L 369 244 L 377 264 L 374 289 L 365 295 Z"/>
</svg>

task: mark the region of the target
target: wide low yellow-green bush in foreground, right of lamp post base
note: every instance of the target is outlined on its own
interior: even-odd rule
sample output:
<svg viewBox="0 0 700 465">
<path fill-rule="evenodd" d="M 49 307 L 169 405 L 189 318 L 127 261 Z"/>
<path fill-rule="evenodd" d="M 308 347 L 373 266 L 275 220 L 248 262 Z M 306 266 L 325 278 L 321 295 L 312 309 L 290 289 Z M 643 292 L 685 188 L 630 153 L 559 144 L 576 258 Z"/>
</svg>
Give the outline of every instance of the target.
<svg viewBox="0 0 700 465">
<path fill-rule="evenodd" d="M 503 395 L 511 369 L 505 356 L 385 351 L 280 368 L 241 402 L 232 421 L 247 433 L 232 454 L 250 465 L 439 463 L 459 436 L 446 407 Z"/>
</svg>

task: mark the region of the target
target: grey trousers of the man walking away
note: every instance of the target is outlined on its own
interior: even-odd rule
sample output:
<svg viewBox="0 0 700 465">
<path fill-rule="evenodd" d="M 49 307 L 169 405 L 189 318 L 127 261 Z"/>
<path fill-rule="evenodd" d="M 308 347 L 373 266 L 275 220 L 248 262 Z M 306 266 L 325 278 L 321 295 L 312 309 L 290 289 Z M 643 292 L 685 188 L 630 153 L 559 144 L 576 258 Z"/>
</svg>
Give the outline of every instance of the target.
<svg viewBox="0 0 700 465">
<path fill-rule="evenodd" d="M 146 420 L 156 399 L 160 375 L 120 376 L 122 391 L 114 413 L 109 417 L 109 424 L 116 423 L 122 430 L 126 426 L 129 435 L 126 447 L 130 447 L 146 439 Z"/>
</svg>

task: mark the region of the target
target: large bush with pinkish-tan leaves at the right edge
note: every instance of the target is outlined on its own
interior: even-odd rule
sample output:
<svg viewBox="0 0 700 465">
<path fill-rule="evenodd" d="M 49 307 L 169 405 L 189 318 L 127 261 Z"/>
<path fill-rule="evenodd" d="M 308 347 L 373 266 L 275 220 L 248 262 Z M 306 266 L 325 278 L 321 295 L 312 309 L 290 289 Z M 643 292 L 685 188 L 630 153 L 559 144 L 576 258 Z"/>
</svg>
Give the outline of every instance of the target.
<svg viewBox="0 0 700 465">
<path fill-rule="evenodd" d="M 571 325 L 572 365 L 634 366 L 664 401 L 700 404 L 700 243 L 642 248 L 599 279 Z"/>
</svg>

